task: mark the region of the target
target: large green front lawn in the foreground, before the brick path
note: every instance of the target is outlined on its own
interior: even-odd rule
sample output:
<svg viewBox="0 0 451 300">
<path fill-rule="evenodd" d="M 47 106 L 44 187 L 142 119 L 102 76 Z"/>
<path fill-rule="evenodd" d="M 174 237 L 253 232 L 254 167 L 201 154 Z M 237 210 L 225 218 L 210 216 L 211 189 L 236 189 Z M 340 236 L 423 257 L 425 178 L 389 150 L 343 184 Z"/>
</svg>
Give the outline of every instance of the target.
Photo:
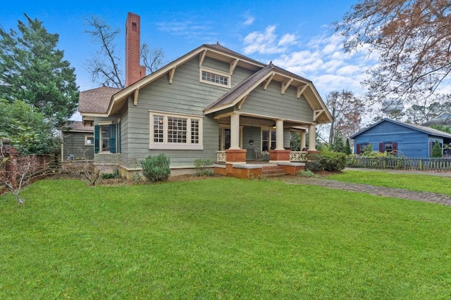
<svg viewBox="0 0 451 300">
<path fill-rule="evenodd" d="M 0 299 L 450 299 L 451 208 L 220 178 L 0 196 Z"/>
</svg>

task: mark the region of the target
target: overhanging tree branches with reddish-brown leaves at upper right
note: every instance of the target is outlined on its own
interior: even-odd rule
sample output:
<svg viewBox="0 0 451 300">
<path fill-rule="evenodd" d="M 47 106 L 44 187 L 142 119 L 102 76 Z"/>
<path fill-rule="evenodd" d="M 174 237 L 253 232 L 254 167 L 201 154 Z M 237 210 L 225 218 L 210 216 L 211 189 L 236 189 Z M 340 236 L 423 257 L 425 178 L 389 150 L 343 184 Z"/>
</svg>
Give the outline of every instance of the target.
<svg viewBox="0 0 451 300">
<path fill-rule="evenodd" d="M 334 25 L 345 37 L 345 51 L 378 55 L 364 81 L 370 99 L 382 103 L 391 95 L 415 103 L 447 85 L 450 24 L 450 1 L 360 0 Z"/>
</svg>

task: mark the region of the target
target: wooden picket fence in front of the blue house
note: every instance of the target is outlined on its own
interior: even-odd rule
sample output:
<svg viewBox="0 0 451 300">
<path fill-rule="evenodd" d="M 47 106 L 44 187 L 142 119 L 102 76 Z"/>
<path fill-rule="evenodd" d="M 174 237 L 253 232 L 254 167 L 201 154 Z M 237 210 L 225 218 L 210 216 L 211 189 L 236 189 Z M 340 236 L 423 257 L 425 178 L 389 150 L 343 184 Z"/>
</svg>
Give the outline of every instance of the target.
<svg viewBox="0 0 451 300">
<path fill-rule="evenodd" d="M 349 168 L 451 171 L 451 158 L 348 157 Z"/>
</svg>

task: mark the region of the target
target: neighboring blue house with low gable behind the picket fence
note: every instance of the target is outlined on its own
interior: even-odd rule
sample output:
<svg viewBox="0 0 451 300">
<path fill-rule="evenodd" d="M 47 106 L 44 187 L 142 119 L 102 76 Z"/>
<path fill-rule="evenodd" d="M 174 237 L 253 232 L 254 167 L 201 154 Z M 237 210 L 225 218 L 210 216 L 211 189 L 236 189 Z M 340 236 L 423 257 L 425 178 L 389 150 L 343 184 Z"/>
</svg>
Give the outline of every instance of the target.
<svg viewBox="0 0 451 300">
<path fill-rule="evenodd" d="M 354 139 L 354 154 L 360 154 L 371 145 L 373 151 L 412 158 L 431 157 L 435 140 L 442 149 L 443 145 L 451 143 L 450 133 L 392 119 L 382 119 L 351 138 Z M 446 156 L 447 152 L 444 154 Z"/>
</svg>

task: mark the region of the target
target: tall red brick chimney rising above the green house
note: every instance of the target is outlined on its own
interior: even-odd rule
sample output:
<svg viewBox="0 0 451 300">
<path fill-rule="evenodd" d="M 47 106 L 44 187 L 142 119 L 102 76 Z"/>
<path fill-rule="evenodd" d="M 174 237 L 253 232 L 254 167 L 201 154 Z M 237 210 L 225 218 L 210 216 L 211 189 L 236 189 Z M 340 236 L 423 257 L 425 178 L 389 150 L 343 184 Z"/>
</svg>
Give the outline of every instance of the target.
<svg viewBox="0 0 451 300">
<path fill-rule="evenodd" d="M 140 16 L 128 13 L 125 22 L 125 87 L 146 76 L 146 67 L 140 65 Z"/>
</svg>

